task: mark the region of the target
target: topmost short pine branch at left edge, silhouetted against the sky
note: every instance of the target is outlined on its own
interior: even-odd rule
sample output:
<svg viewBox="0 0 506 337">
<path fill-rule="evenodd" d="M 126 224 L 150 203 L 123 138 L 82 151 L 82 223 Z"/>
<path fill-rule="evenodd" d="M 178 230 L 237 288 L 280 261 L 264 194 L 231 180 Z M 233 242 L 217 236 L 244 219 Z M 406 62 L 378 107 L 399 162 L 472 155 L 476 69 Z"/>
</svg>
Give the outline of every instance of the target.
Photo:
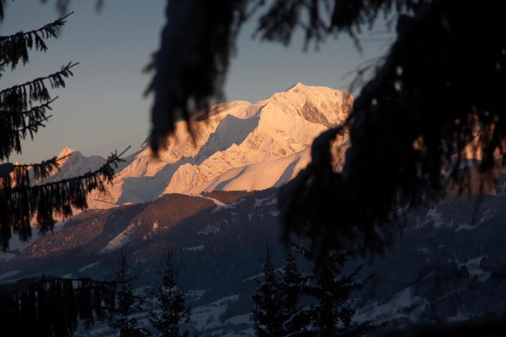
<svg viewBox="0 0 506 337">
<path fill-rule="evenodd" d="M 50 37 L 56 38 L 56 32 L 67 22 L 65 19 L 72 13 L 38 29 L 0 36 L 0 63 L 2 66 L 10 65 L 11 69 L 15 69 L 19 61 L 25 65 L 28 62 L 28 50 L 32 50 L 33 48 L 37 51 L 46 52 L 48 47 L 44 40 Z M 0 19 L 3 19 L 1 3 Z"/>
</svg>

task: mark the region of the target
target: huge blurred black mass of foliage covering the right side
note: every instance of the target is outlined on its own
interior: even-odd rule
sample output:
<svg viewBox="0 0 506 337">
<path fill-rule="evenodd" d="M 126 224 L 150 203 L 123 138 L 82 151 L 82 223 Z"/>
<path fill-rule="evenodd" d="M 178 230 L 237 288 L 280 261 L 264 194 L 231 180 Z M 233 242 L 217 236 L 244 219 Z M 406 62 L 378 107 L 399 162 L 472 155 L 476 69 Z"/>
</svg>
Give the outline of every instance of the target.
<svg viewBox="0 0 506 337">
<path fill-rule="evenodd" d="M 281 191 L 288 230 L 310 236 L 320 251 L 381 252 L 393 230 L 385 224 L 405 206 L 440 197 L 442 173 L 457 177 L 470 141 L 480 168 L 493 167 L 506 150 L 504 9 L 434 1 L 399 17 L 396 42 L 346 122 L 352 146 L 343 172 L 328 169 L 330 130 L 314 142 L 313 163 Z M 306 211 L 300 206 L 309 200 L 317 202 Z"/>
</svg>

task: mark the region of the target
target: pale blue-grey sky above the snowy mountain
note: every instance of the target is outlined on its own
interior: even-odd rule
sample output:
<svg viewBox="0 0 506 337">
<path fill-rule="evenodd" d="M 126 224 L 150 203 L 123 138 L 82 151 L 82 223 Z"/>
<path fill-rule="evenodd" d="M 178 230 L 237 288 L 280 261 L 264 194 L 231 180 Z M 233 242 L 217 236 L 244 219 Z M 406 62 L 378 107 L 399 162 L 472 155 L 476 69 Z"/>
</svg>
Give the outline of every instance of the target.
<svg viewBox="0 0 506 337">
<path fill-rule="evenodd" d="M 59 15 L 54 2 L 16 0 L 6 3 L 0 34 L 12 34 L 52 22 Z M 105 0 L 100 13 L 94 0 L 74 0 L 58 39 L 47 41 L 47 53 L 31 52 L 30 63 L 7 71 L 5 88 L 47 75 L 69 61 L 79 62 L 67 87 L 53 90 L 59 99 L 46 128 L 23 143 L 23 154 L 11 161 L 38 162 L 68 146 L 86 156 L 107 156 L 132 145 L 137 150 L 148 136 L 151 98 L 143 98 L 150 76 L 142 69 L 157 49 L 164 24 L 166 0 Z M 191 18 L 189 18 L 191 20 Z M 302 35 L 289 47 L 252 39 L 256 22 L 241 31 L 237 55 L 232 60 L 225 93 L 227 101 L 256 102 L 300 81 L 347 89 L 345 73 L 367 58 L 386 50 L 385 43 L 364 42 L 359 54 L 350 38 L 328 40 L 319 51 L 302 52 Z"/>
</svg>

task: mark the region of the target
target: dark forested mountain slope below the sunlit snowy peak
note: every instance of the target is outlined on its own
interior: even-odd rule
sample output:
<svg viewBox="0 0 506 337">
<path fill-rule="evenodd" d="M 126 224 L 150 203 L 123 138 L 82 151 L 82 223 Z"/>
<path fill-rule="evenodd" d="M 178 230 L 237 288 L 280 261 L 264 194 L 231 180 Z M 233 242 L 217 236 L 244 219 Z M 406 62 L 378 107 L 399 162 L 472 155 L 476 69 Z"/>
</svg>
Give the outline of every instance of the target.
<svg viewBox="0 0 506 337">
<path fill-rule="evenodd" d="M 115 250 L 128 243 L 128 259 L 140 271 L 136 286 L 149 292 L 168 245 L 181 259 L 180 282 L 200 294 L 190 303 L 192 324 L 205 330 L 240 315 L 246 319 L 237 328 L 246 329 L 251 326 L 249 295 L 262 272 L 266 241 L 275 267 L 283 264 L 276 195 L 276 189 L 215 190 L 201 197 L 170 194 L 154 202 L 90 210 L 0 262 L 0 284 L 43 273 L 102 279 L 114 273 Z M 357 318 L 400 326 L 424 323 L 435 314 L 450 321 L 501 312 L 506 195 L 482 196 L 478 208 L 477 200 L 447 200 L 410 213 L 385 253 L 364 264 L 358 278 L 375 276 L 356 294 L 363 306 Z M 473 224 L 474 212 L 481 221 Z M 351 260 L 346 271 L 363 263 Z M 362 296 L 368 301 L 361 302 Z M 210 308 L 220 307 L 215 302 L 227 297 L 238 303 L 225 305 L 219 317 Z M 239 300 L 244 302 L 239 305 Z"/>
</svg>

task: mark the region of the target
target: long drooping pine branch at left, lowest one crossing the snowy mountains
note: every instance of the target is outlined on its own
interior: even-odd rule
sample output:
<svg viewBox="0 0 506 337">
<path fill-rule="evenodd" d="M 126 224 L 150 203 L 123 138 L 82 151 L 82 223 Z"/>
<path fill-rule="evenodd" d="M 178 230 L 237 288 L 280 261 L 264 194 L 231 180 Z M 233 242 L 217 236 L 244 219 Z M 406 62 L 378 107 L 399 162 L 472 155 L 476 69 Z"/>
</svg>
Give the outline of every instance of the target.
<svg viewBox="0 0 506 337">
<path fill-rule="evenodd" d="M 130 148 L 130 147 L 129 147 Z M 129 148 L 120 153 L 111 154 L 107 162 L 99 169 L 68 179 L 60 181 L 30 186 L 27 184 L 18 184 L 8 186 L 9 178 L 6 174 L 11 174 L 15 166 L 10 163 L 3 164 L 3 184 L 0 189 L 0 245 L 2 249 L 9 249 L 9 240 L 12 231 L 17 233 L 20 240 L 26 242 L 31 237 L 31 220 L 36 219 L 38 230 L 41 233 L 48 232 L 54 228 L 56 223 L 54 215 L 62 215 L 64 219 L 72 216 L 72 207 L 77 209 L 87 209 L 88 204 L 86 196 L 88 192 L 99 189 L 104 190 L 105 183 L 111 183 L 114 176 L 114 168 L 123 160 L 120 158 Z M 36 165 L 34 172 L 38 177 L 44 176 L 45 172 L 55 167 L 56 160 L 52 159 Z M 0 166 L 0 168 L 2 168 Z M 26 167 L 18 166 L 23 172 Z M 24 171 L 26 175 L 26 171 Z M 12 179 L 12 178 L 11 178 Z M 12 180 L 11 180 L 12 181 Z M 19 179 L 29 183 L 27 177 Z"/>
</svg>

